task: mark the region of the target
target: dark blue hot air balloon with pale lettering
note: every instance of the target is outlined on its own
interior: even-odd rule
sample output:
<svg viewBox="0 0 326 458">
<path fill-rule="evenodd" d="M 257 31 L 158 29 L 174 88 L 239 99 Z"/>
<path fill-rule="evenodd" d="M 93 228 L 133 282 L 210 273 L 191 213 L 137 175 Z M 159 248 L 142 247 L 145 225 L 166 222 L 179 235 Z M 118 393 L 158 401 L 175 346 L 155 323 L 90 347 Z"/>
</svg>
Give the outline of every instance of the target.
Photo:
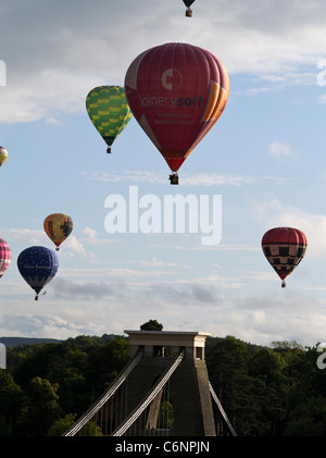
<svg viewBox="0 0 326 458">
<path fill-rule="evenodd" d="M 35 300 L 38 300 L 40 290 L 55 275 L 59 260 L 55 252 L 49 248 L 35 246 L 20 253 L 17 268 L 23 278 L 35 290 Z"/>
</svg>

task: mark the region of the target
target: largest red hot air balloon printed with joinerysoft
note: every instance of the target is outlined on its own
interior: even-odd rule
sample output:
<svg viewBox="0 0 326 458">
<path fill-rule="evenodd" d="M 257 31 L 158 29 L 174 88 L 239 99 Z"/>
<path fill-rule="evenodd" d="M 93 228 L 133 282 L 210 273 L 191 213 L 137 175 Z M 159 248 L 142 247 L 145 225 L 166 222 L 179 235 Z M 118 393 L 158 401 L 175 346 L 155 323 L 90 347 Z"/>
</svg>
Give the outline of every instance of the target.
<svg viewBox="0 0 326 458">
<path fill-rule="evenodd" d="M 161 45 L 131 62 L 125 89 L 134 116 L 173 172 L 171 184 L 178 184 L 178 169 L 226 106 L 224 65 L 197 46 Z"/>
</svg>

